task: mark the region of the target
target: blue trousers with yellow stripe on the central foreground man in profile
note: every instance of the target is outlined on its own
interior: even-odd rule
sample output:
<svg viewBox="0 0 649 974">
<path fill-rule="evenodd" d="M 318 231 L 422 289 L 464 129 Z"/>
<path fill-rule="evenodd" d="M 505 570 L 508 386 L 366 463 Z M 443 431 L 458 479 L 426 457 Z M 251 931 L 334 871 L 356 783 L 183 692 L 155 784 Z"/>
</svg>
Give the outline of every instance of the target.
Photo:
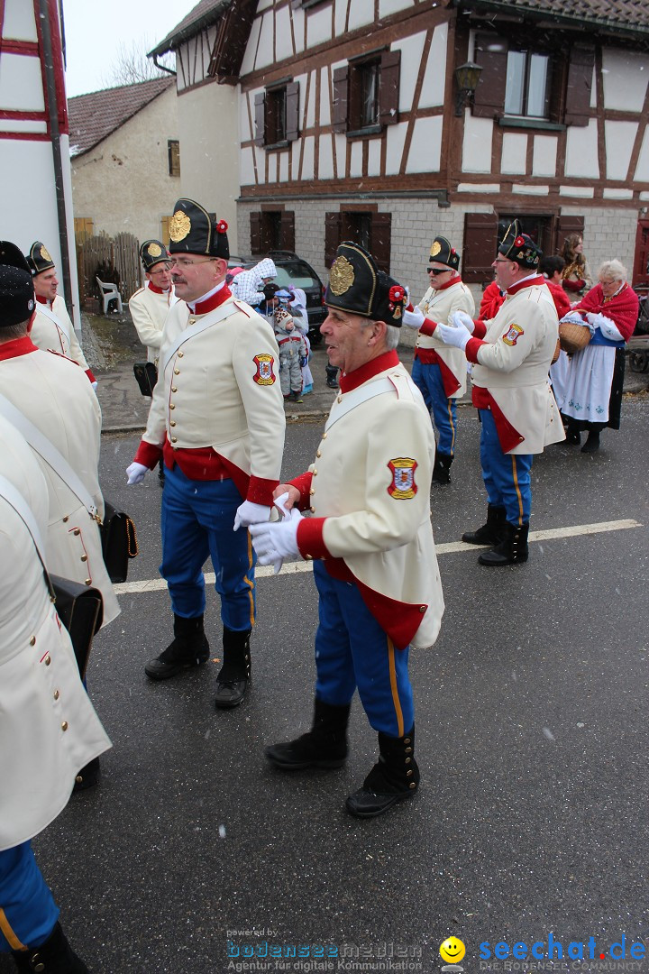
<svg viewBox="0 0 649 974">
<path fill-rule="evenodd" d="M 403 737 L 415 723 L 409 647 L 396 649 L 370 614 L 356 585 L 332 579 L 313 562 L 320 600 L 315 633 L 315 695 L 343 706 L 358 695 L 375 731 Z"/>
</svg>

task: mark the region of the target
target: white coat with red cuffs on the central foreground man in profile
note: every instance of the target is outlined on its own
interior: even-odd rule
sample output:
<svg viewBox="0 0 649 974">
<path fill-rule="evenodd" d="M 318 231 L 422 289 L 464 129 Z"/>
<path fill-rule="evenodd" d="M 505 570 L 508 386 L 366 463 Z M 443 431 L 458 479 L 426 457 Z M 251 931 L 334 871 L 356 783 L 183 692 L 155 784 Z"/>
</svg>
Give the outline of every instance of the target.
<svg viewBox="0 0 649 974">
<path fill-rule="evenodd" d="M 336 397 L 310 478 L 296 481 L 311 512 L 298 543 L 303 557 L 343 559 L 396 647 L 430 646 L 444 613 L 430 523 L 435 440 L 397 354 L 375 361 L 379 372 L 363 366 L 367 380 Z"/>
</svg>

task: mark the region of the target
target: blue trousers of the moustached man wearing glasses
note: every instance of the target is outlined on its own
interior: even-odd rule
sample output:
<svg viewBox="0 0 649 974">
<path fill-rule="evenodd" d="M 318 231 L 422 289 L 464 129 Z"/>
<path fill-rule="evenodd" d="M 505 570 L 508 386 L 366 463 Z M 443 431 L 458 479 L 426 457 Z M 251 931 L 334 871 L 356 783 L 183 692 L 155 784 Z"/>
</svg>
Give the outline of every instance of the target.
<svg viewBox="0 0 649 974">
<path fill-rule="evenodd" d="M 160 573 L 169 586 L 176 616 L 195 618 L 204 613 L 202 566 L 210 555 L 223 624 L 237 631 L 254 625 L 257 559 L 248 531 L 233 531 L 240 504 L 233 480 L 190 480 L 178 466 L 167 468 Z"/>
</svg>

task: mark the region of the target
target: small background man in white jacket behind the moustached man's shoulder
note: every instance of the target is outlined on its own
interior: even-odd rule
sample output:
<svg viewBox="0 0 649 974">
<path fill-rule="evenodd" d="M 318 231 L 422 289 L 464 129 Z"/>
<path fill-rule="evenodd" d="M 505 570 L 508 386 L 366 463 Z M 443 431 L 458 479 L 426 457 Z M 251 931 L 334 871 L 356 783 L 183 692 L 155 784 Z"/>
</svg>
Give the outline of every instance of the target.
<svg viewBox="0 0 649 974">
<path fill-rule="evenodd" d="M 146 346 L 147 361 L 157 368 L 162 328 L 177 298 L 171 282 L 170 257 L 162 241 L 145 241 L 140 247 L 140 259 L 147 282 L 131 294 L 128 311 L 139 340 Z"/>
</svg>

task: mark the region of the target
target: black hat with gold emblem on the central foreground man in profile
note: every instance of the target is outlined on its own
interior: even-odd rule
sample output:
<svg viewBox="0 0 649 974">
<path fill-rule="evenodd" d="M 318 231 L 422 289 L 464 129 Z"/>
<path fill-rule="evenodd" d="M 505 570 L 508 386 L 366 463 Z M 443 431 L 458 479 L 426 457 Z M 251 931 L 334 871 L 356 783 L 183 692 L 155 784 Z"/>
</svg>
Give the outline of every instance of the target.
<svg viewBox="0 0 649 974">
<path fill-rule="evenodd" d="M 344 241 L 331 265 L 325 304 L 400 328 L 408 298 L 406 288 L 379 271 L 367 250 Z"/>
</svg>

